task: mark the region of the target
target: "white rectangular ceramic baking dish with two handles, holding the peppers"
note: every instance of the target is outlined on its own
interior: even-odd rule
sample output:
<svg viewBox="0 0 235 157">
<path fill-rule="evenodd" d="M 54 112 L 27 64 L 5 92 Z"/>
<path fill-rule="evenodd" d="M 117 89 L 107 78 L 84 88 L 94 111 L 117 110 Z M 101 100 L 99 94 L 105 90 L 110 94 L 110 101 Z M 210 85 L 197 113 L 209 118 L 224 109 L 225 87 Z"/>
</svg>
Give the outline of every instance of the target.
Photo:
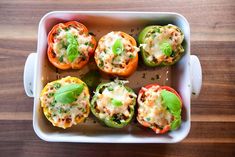
<svg viewBox="0 0 235 157">
<path fill-rule="evenodd" d="M 174 24 L 185 35 L 183 46 L 185 55 L 170 67 L 148 68 L 141 63 L 137 71 L 128 78 L 136 92 L 149 83 L 169 85 L 175 88 L 183 99 L 182 125 L 164 135 L 141 127 L 136 120 L 123 128 L 107 128 L 90 114 L 86 122 L 63 130 L 53 127 L 43 115 L 39 96 L 42 88 L 49 81 L 64 76 L 81 77 L 91 69 L 94 62 L 82 70 L 61 71 L 53 67 L 47 59 L 47 34 L 60 22 L 76 20 L 88 27 L 98 40 L 104 34 L 120 30 L 137 37 L 142 28 L 148 25 Z M 180 14 L 169 12 L 123 12 L 123 11 L 55 11 L 46 14 L 39 23 L 37 53 L 31 53 L 25 63 L 24 88 L 29 97 L 34 97 L 33 128 L 45 141 L 53 142 L 93 142 L 93 143 L 175 143 L 184 139 L 190 130 L 190 100 L 197 96 L 202 84 L 202 72 L 199 59 L 190 55 L 190 28 L 187 20 Z"/>
</svg>

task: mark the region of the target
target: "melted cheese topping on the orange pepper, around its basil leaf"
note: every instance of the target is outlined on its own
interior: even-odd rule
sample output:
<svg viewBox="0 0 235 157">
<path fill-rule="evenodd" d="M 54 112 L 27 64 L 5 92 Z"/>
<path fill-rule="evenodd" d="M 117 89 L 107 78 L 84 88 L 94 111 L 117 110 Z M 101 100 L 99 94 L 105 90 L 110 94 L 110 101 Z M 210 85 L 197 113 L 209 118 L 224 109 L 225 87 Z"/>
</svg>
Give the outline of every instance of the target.
<svg viewBox="0 0 235 157">
<path fill-rule="evenodd" d="M 120 55 L 115 55 L 112 50 L 117 39 L 121 40 L 124 47 Z M 138 51 L 139 48 L 133 46 L 128 39 L 121 35 L 121 32 L 110 32 L 99 41 L 95 58 L 98 66 L 105 71 L 120 72 L 126 69 L 129 61 L 138 55 Z"/>
</svg>

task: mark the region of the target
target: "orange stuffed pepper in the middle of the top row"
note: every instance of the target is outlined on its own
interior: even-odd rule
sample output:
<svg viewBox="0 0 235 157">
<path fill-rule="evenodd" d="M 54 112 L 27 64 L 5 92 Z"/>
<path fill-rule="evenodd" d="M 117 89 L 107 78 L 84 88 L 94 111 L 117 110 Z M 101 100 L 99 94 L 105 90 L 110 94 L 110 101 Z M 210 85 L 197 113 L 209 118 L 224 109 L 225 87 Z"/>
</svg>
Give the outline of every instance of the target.
<svg viewBox="0 0 235 157">
<path fill-rule="evenodd" d="M 98 68 L 112 76 L 128 77 L 138 65 L 136 41 L 124 32 L 110 32 L 103 36 L 95 51 Z"/>
</svg>

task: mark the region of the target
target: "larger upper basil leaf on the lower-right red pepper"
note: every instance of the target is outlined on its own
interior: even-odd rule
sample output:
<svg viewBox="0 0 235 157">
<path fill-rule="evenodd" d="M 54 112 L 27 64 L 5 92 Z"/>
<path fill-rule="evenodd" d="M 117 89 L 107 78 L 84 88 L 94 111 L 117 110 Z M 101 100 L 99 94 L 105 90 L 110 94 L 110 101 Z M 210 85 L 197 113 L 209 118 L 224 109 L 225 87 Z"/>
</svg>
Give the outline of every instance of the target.
<svg viewBox="0 0 235 157">
<path fill-rule="evenodd" d="M 170 113 L 174 116 L 181 114 L 180 99 L 172 92 L 167 90 L 161 91 L 163 104 L 169 109 Z"/>
</svg>

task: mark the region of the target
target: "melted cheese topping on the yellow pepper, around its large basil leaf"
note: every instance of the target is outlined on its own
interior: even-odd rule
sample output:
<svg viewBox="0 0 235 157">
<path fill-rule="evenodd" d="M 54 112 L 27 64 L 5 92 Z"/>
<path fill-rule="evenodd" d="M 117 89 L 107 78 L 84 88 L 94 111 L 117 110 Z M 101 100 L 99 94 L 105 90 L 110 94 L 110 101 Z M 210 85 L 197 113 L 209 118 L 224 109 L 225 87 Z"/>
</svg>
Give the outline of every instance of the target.
<svg viewBox="0 0 235 157">
<path fill-rule="evenodd" d="M 66 123 L 72 126 L 73 124 L 77 124 L 78 119 L 88 116 L 86 114 L 88 113 L 87 108 L 89 106 L 90 96 L 85 90 L 71 104 L 62 104 L 55 101 L 54 94 L 59 89 L 56 85 L 63 87 L 70 83 L 77 83 L 75 81 L 69 81 L 69 78 L 68 76 L 56 82 L 48 83 L 47 90 L 40 97 L 41 106 L 46 109 L 46 117 L 54 125 L 56 124 L 56 126 L 62 128 L 64 128 Z"/>
</svg>

